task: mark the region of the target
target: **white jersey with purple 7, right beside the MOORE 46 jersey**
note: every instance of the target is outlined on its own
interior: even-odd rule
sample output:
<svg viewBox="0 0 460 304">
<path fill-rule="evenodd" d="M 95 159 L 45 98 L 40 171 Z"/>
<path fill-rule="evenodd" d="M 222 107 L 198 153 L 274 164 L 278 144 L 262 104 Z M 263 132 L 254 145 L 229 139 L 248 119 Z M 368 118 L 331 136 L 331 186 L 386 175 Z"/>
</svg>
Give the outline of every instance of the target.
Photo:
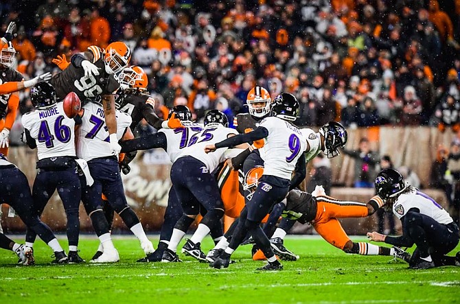
<svg viewBox="0 0 460 304">
<path fill-rule="evenodd" d="M 77 132 L 77 156 L 90 161 L 100 157 L 111 156 L 110 140 L 104 117 L 104 108 L 99 104 L 88 102 L 83 107 L 82 124 Z M 122 139 L 132 119 L 128 113 L 115 111 L 117 117 L 117 139 Z"/>
</svg>

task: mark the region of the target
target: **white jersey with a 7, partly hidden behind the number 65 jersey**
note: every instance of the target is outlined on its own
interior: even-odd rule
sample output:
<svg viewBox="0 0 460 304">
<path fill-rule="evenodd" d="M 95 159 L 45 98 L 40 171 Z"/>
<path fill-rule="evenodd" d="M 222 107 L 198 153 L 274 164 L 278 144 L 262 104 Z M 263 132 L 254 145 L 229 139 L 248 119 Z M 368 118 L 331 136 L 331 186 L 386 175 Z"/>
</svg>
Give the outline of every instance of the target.
<svg viewBox="0 0 460 304">
<path fill-rule="evenodd" d="M 179 158 L 182 150 L 189 144 L 189 139 L 203 130 L 202 124 L 195 124 L 189 121 L 183 121 L 182 124 L 185 128 L 160 129 L 158 131 L 166 135 L 166 153 L 170 156 L 171 163 L 174 163 Z"/>
</svg>

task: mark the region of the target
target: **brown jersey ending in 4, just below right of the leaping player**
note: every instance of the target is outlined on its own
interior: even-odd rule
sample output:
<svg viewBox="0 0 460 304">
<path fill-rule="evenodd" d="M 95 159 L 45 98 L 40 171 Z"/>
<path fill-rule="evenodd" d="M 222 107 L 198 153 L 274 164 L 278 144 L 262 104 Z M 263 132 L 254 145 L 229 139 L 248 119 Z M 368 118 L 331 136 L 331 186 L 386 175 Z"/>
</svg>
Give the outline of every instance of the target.
<svg viewBox="0 0 460 304">
<path fill-rule="evenodd" d="M 122 91 L 115 98 L 115 104 L 119 107 L 122 112 L 128 113 L 133 119 L 133 123 L 130 126 L 131 130 L 134 130 L 143 118 L 146 119 L 148 124 L 157 130 L 161 129 L 161 123 L 163 119 L 160 119 L 155 114 L 154 99 L 147 93 L 143 93 L 137 90 L 126 90 Z"/>
</svg>

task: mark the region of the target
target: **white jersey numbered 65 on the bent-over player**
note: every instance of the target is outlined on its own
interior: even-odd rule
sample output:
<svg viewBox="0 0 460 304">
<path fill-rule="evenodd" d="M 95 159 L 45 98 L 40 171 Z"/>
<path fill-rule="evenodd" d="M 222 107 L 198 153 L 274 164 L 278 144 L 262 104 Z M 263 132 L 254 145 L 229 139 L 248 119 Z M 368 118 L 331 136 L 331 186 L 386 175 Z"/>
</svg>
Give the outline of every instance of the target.
<svg viewBox="0 0 460 304">
<path fill-rule="evenodd" d="M 209 172 L 213 172 L 216 167 L 225 161 L 228 148 L 220 148 L 216 151 L 206 154 L 205 147 L 213 145 L 228 138 L 230 134 L 238 135 L 235 129 L 225 128 L 224 126 L 206 126 L 202 131 L 190 137 L 189 143 L 186 148 L 183 148 L 181 154 L 178 156 L 192 156 L 198 161 L 202 161 Z"/>
</svg>

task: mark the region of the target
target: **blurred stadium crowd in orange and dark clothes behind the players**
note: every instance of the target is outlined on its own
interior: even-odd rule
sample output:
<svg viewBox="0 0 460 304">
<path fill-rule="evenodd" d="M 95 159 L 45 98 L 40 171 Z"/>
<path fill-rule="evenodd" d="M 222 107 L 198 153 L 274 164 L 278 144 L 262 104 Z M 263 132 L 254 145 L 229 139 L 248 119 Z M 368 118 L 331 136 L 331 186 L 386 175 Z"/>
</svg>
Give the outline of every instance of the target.
<svg viewBox="0 0 460 304">
<path fill-rule="evenodd" d="M 2 1 L 26 78 L 51 60 L 122 40 L 160 117 L 186 104 L 232 121 L 257 83 L 294 94 L 299 126 L 330 120 L 459 129 L 460 3 L 446 0 Z M 20 110 L 31 107 L 27 93 Z M 19 115 L 20 118 L 20 115 Z"/>
</svg>

